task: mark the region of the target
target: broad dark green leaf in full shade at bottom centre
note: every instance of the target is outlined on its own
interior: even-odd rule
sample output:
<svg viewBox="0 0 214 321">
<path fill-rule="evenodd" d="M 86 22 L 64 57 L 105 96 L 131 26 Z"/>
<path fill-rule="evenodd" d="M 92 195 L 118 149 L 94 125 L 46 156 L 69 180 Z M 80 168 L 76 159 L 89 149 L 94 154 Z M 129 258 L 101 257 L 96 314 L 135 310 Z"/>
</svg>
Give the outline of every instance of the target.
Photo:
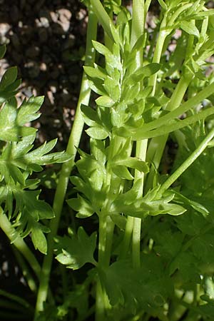
<svg viewBox="0 0 214 321">
<path fill-rule="evenodd" d="M 111 305 L 126 307 L 133 315 L 139 309 L 148 311 L 151 306 L 157 309 L 158 297 L 164 305 L 172 291 L 163 265 L 155 255 L 144 255 L 141 268 L 133 268 L 128 260 L 119 260 L 98 272 Z"/>
</svg>

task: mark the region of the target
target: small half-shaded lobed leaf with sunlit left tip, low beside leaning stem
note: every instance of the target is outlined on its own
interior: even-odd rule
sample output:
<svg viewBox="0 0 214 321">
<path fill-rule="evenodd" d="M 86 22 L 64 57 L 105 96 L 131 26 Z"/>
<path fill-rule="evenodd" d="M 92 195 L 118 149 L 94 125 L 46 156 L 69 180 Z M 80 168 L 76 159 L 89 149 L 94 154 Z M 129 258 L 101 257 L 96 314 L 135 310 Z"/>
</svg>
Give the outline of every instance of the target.
<svg viewBox="0 0 214 321">
<path fill-rule="evenodd" d="M 56 238 L 56 260 L 66 267 L 77 270 L 86 263 L 96 265 L 93 252 L 96 249 L 96 233 L 88 236 L 82 227 L 78 228 L 77 234 Z"/>
</svg>

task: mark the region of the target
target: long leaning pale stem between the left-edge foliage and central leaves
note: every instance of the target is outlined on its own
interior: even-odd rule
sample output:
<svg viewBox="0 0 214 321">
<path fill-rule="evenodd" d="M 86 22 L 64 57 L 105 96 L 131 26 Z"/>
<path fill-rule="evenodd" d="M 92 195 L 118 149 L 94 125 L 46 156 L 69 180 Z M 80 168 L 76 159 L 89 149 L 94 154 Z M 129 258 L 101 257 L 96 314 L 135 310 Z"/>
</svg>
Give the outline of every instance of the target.
<svg viewBox="0 0 214 321">
<path fill-rule="evenodd" d="M 92 47 L 92 40 L 96 39 L 97 30 L 97 19 L 93 11 L 89 9 L 88 12 L 88 29 L 87 29 L 87 40 L 86 40 L 86 66 L 92 66 L 95 59 L 95 51 Z M 76 157 L 76 147 L 78 147 L 79 141 L 81 139 L 81 133 L 83 131 L 83 118 L 81 116 L 81 104 L 88 105 L 88 101 L 91 96 L 91 89 L 88 87 L 88 81 L 85 73 L 83 73 L 81 92 L 78 99 L 78 105 L 76 108 L 76 116 L 73 122 L 73 127 L 71 130 L 71 135 L 68 140 L 67 153 L 72 156 L 71 161 L 63 163 L 61 168 L 61 173 L 58 179 L 58 185 L 56 188 L 56 194 L 54 198 L 54 213 L 55 218 L 51 220 L 51 233 L 48 236 L 48 252 L 44 258 L 44 263 L 41 270 L 41 278 L 39 284 L 39 291 L 36 302 L 35 319 L 39 314 L 39 311 L 43 310 L 43 304 L 46 301 L 48 291 L 49 291 L 49 277 L 51 273 L 51 265 L 53 260 L 54 251 L 54 237 L 58 230 L 58 223 L 61 217 L 61 210 L 63 207 L 63 201 L 66 195 L 66 188 L 68 185 L 68 179 L 73 169 L 74 159 Z"/>
</svg>

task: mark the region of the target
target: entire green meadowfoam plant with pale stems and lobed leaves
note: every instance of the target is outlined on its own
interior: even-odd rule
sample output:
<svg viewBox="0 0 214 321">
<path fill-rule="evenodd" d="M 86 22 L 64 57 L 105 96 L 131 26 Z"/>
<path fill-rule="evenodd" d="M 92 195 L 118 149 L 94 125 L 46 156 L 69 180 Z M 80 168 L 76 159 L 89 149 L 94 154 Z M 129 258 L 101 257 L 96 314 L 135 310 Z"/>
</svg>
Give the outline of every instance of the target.
<svg viewBox="0 0 214 321">
<path fill-rule="evenodd" d="M 49 153 L 56 141 L 31 151 L 35 130 L 24 124 L 42 98 L 16 107 L 14 69 L 0 83 L 0 227 L 39 277 L 38 288 L 26 277 L 34 320 L 213 320 L 214 10 L 158 0 L 151 26 L 151 0 L 133 0 L 131 11 L 120 0 L 83 2 L 86 60 L 66 153 Z M 29 176 L 57 162 L 51 208 Z M 65 197 L 76 219 L 62 236 Z M 46 254 L 41 266 L 29 234 Z M 54 256 L 61 282 L 51 287 Z"/>
</svg>

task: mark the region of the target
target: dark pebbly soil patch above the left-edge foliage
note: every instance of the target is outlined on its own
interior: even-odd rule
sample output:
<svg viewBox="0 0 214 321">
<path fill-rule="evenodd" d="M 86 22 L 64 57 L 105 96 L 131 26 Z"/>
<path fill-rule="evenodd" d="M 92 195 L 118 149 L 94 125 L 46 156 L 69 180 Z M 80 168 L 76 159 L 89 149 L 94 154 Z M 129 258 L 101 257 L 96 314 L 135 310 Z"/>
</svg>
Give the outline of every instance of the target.
<svg viewBox="0 0 214 321">
<path fill-rule="evenodd" d="M 0 0 L 0 44 L 8 66 L 18 66 L 22 78 L 18 99 L 44 95 L 39 141 L 58 138 L 66 147 L 81 83 L 87 11 L 76 0 Z"/>
</svg>

